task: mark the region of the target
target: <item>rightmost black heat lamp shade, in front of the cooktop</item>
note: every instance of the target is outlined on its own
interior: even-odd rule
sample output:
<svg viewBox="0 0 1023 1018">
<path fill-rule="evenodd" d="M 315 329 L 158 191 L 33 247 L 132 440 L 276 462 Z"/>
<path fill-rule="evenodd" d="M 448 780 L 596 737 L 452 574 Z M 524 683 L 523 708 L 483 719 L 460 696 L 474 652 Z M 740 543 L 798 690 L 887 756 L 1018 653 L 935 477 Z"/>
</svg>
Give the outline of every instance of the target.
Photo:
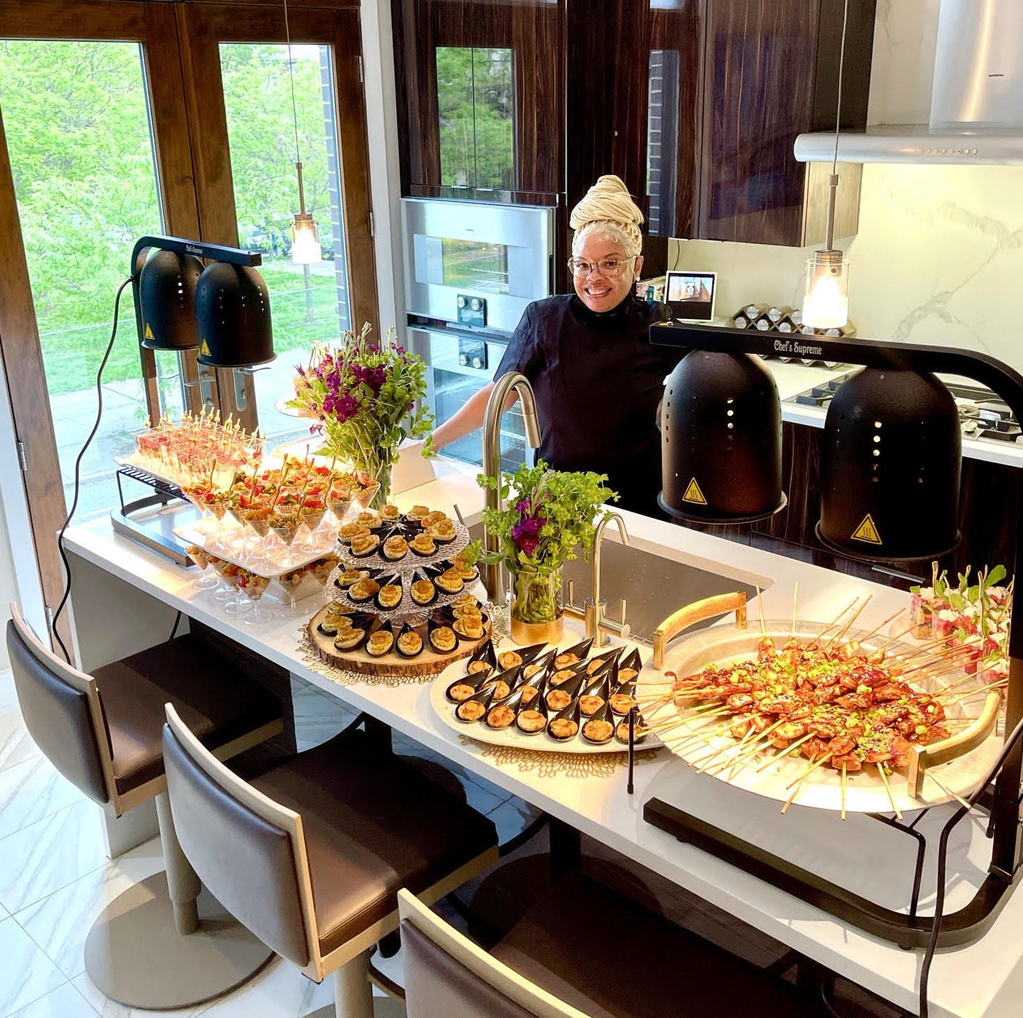
<svg viewBox="0 0 1023 1018">
<path fill-rule="evenodd" d="M 868 561 L 944 555 L 961 538 L 961 467 L 951 392 L 930 372 L 864 368 L 828 408 L 817 539 Z"/>
</svg>

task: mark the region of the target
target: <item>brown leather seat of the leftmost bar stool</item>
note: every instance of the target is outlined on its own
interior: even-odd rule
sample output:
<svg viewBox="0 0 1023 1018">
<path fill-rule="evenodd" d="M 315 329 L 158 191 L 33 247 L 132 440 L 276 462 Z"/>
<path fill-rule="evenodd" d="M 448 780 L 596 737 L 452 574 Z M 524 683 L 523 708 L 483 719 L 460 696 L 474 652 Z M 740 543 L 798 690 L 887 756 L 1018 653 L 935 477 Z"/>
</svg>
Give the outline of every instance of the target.
<svg viewBox="0 0 1023 1018">
<path fill-rule="evenodd" d="M 186 634 L 92 673 L 102 699 L 118 791 L 163 777 L 166 703 L 210 749 L 280 720 L 280 703 L 237 665 Z"/>
</svg>

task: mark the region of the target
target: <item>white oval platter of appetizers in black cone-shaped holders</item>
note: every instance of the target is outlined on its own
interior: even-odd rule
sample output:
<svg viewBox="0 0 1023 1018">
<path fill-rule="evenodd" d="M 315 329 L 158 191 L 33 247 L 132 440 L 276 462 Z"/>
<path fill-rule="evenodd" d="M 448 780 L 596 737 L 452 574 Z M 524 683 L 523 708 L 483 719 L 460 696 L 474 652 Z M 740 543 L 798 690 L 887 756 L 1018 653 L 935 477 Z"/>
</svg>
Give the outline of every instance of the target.
<svg viewBox="0 0 1023 1018">
<path fill-rule="evenodd" d="M 510 643 L 503 646 L 503 650 L 495 650 L 493 643 L 488 640 L 480 645 L 469 661 L 456 661 L 434 681 L 430 689 L 430 702 L 445 725 L 459 735 L 496 746 L 557 753 L 628 751 L 627 710 L 625 713 L 617 713 L 612 709 L 612 704 L 619 705 L 619 701 L 613 699 L 616 692 L 625 696 L 635 692 L 634 682 L 629 681 L 629 676 L 634 680 L 641 668 L 638 649 L 628 651 L 624 646 L 619 646 L 592 650 L 592 640 L 579 641 L 578 636 L 572 635 L 567 636 L 557 647 L 547 644 L 516 647 Z M 506 658 L 508 653 L 515 653 L 521 663 L 514 663 L 515 658 Z M 565 654 L 571 654 L 576 660 L 566 663 L 568 658 L 561 656 Z M 510 666 L 501 667 L 509 662 Z M 474 672 L 474 668 L 480 670 Z M 535 668 L 539 670 L 534 670 Z M 626 672 L 626 668 L 629 670 Z M 569 670 L 573 673 L 571 677 L 562 677 L 562 673 Z M 619 676 L 626 681 L 620 683 Z M 502 685 L 498 687 L 497 684 Z M 462 685 L 473 687 L 476 692 L 464 699 L 452 699 L 452 695 L 460 697 L 465 692 L 455 688 Z M 497 694 L 504 694 L 505 687 L 507 693 L 498 696 Z M 523 706 L 525 690 L 534 687 L 537 692 L 531 695 L 528 705 Z M 548 706 L 549 695 L 559 692 L 562 694 L 561 699 Z M 587 697 L 590 697 L 589 702 Z M 587 713 L 596 705 L 596 700 L 602 700 L 603 706 Z M 482 704 L 483 711 L 477 721 L 462 721 L 458 716 L 459 710 L 468 701 Z M 563 702 L 564 706 L 561 705 Z M 510 709 L 515 713 L 515 720 L 505 728 L 493 728 L 491 721 L 500 723 L 508 718 L 505 710 L 503 719 L 499 721 L 498 715 L 491 713 L 495 707 Z M 543 728 L 535 732 L 526 732 L 520 728 L 523 721 L 520 714 L 526 710 L 534 715 L 539 713 L 544 719 Z M 550 725 L 566 720 L 574 722 L 574 733 L 570 726 L 567 732 L 572 734 L 568 734 L 566 738 L 558 739 L 550 735 Z M 610 738 L 601 743 L 584 738 L 589 721 L 604 722 L 605 733 L 610 725 Z M 540 724 L 535 718 L 532 723 Z M 661 742 L 654 735 L 637 734 L 635 745 L 637 748 L 653 749 L 660 746 Z"/>
</svg>

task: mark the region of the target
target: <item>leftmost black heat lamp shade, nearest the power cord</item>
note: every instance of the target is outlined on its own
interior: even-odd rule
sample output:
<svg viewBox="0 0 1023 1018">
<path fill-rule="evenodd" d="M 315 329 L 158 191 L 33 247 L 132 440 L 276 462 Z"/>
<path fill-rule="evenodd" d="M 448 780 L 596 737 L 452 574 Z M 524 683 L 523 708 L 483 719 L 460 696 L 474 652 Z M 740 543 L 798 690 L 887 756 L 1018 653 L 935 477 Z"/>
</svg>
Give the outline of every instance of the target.
<svg viewBox="0 0 1023 1018">
<path fill-rule="evenodd" d="M 203 263 L 194 254 L 150 248 L 138 274 L 142 328 L 146 350 L 192 350 L 195 332 L 195 283 Z"/>
</svg>

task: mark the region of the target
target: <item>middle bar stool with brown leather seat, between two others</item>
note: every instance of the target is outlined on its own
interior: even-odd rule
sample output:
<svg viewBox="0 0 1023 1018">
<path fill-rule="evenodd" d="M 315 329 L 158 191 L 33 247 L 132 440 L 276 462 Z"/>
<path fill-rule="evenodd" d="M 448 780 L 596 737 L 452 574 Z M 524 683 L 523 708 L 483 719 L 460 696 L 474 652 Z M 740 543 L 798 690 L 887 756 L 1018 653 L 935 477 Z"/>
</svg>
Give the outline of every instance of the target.
<svg viewBox="0 0 1023 1018">
<path fill-rule="evenodd" d="M 320 982 L 326 1018 L 371 1018 L 369 948 L 397 928 L 402 887 L 433 903 L 497 859 L 497 832 L 352 725 L 247 783 L 172 704 L 164 762 L 181 847 L 257 936 Z"/>
</svg>

